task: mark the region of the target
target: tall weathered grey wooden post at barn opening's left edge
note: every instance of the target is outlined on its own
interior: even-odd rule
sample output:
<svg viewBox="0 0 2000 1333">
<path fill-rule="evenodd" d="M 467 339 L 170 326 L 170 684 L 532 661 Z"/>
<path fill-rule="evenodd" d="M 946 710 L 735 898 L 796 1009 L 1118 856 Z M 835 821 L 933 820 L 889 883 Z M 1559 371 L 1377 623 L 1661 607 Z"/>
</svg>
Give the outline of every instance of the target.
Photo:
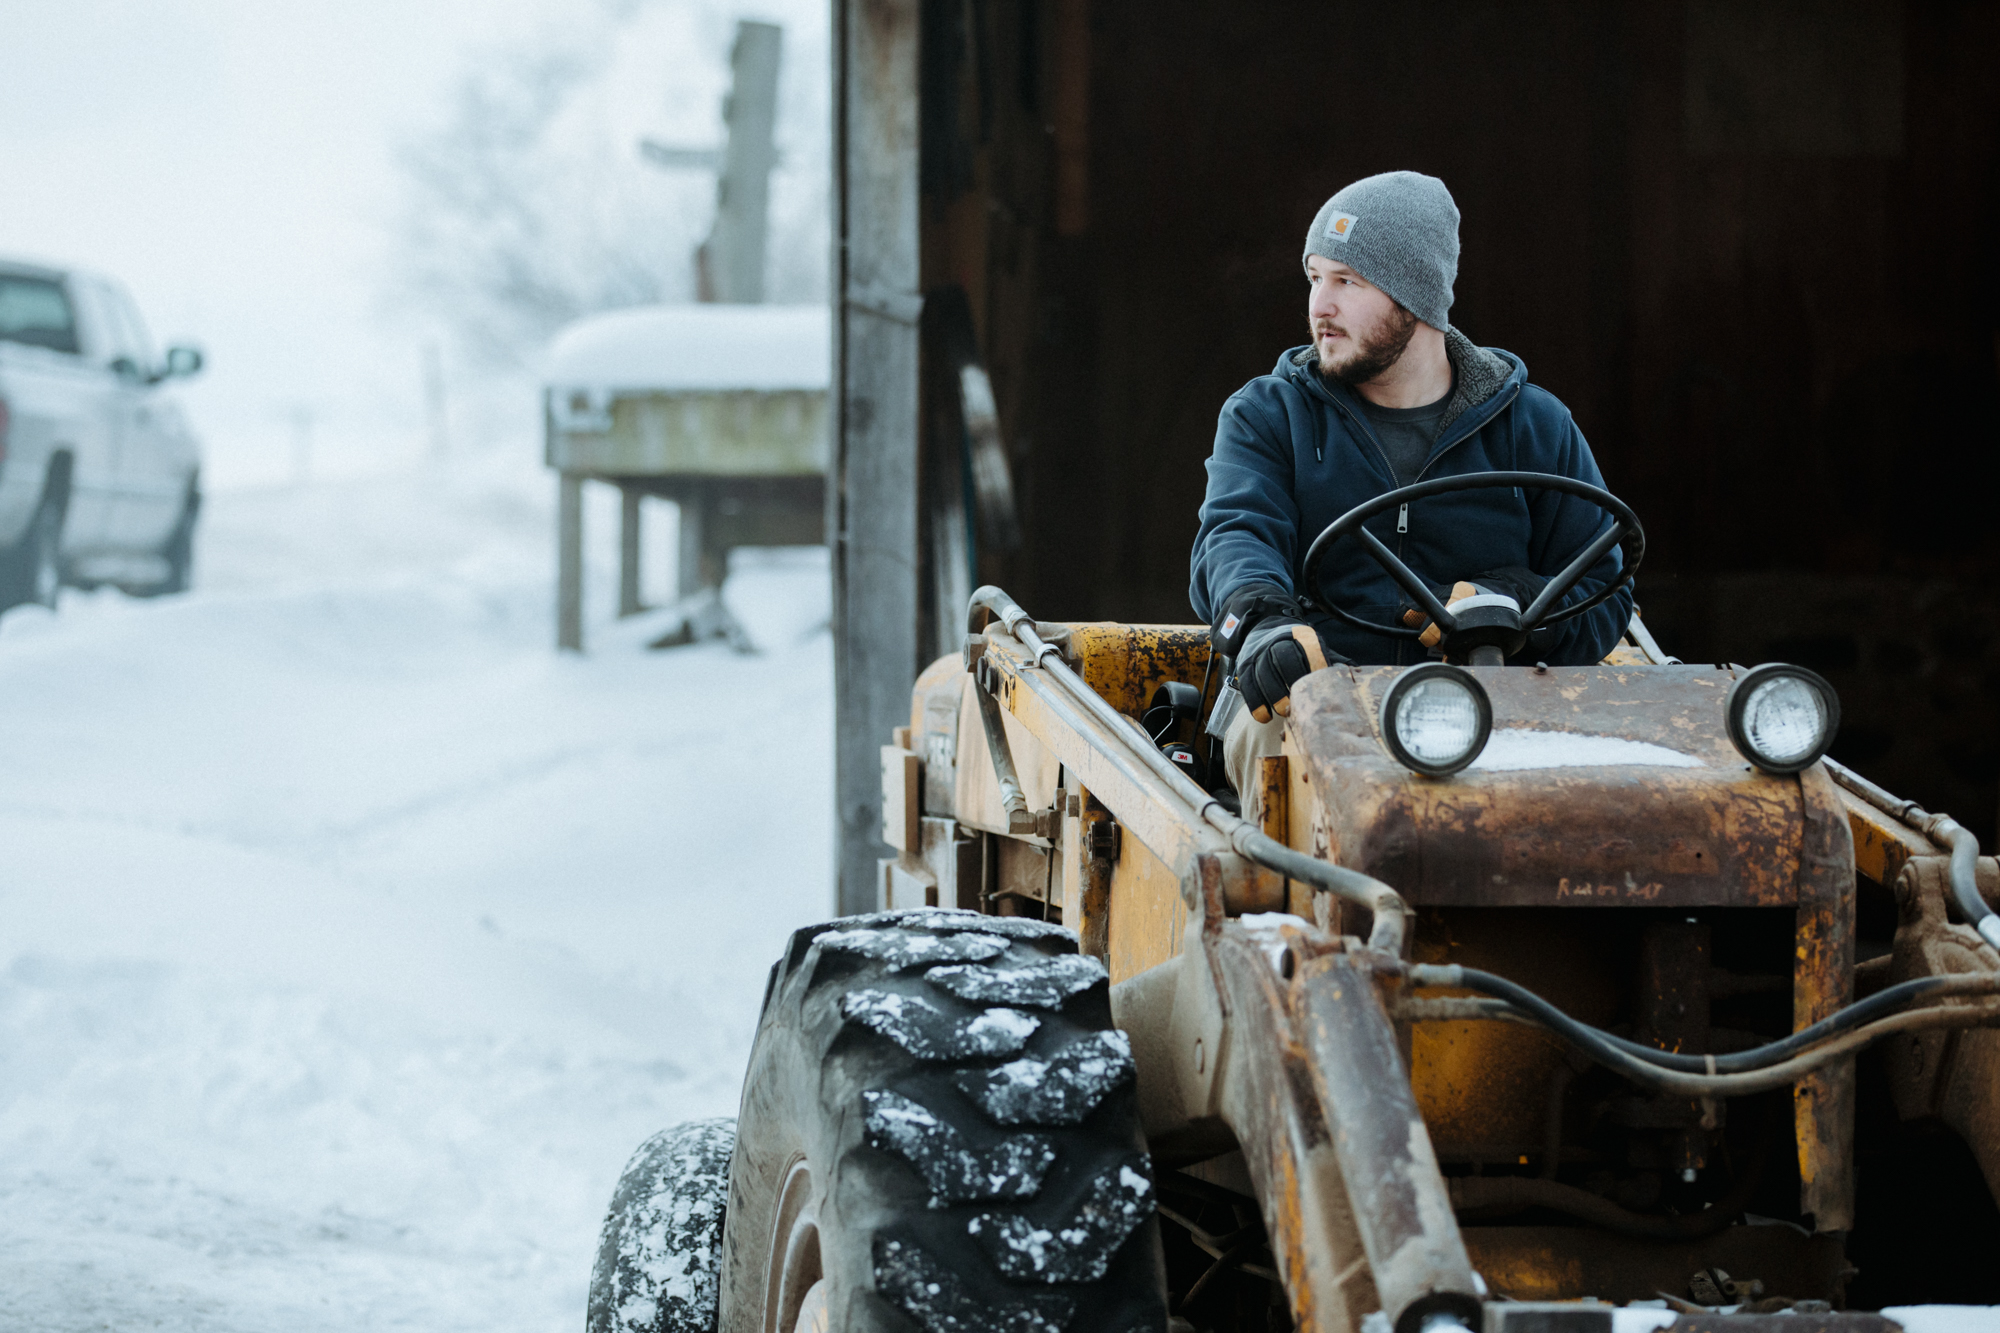
<svg viewBox="0 0 2000 1333">
<path fill-rule="evenodd" d="M 918 0 L 834 4 L 834 789 L 842 913 L 880 905 L 882 745 L 918 671 Z"/>
</svg>

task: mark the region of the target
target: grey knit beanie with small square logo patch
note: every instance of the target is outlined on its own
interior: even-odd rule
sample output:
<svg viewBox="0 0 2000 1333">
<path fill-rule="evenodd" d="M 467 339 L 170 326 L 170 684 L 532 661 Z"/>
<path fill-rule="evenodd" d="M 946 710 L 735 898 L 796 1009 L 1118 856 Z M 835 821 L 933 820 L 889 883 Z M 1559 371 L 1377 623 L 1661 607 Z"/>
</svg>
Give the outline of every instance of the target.
<svg viewBox="0 0 2000 1333">
<path fill-rule="evenodd" d="M 1438 332 L 1450 332 L 1458 204 L 1436 176 L 1364 176 L 1320 204 L 1306 258 L 1346 264 Z"/>
</svg>

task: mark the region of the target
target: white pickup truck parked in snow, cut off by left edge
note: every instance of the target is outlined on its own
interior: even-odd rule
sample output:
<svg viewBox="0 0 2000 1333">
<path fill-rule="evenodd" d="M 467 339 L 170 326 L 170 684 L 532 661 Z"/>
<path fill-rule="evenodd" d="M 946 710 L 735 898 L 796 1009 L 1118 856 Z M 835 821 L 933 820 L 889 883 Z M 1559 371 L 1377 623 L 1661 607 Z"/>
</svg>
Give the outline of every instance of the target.
<svg viewBox="0 0 2000 1333">
<path fill-rule="evenodd" d="M 0 260 L 0 610 L 188 586 L 200 446 L 168 382 L 200 368 L 116 282 Z"/>
</svg>

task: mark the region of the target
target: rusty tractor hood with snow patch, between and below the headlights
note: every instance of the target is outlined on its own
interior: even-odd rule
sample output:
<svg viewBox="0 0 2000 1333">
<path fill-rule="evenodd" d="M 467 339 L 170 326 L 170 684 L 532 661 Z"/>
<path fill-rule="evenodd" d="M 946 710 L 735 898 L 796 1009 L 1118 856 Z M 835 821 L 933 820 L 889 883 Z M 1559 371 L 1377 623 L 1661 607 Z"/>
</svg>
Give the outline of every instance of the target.
<svg viewBox="0 0 2000 1333">
<path fill-rule="evenodd" d="M 1720 666 L 1482 666 L 1494 731 L 1424 779 L 1382 747 L 1402 669 L 1334 666 L 1292 691 L 1286 741 L 1326 853 L 1430 907 L 1780 907 L 1798 901 L 1800 779 L 1730 745 Z M 1812 773 L 1812 771 L 1808 771 Z"/>
</svg>

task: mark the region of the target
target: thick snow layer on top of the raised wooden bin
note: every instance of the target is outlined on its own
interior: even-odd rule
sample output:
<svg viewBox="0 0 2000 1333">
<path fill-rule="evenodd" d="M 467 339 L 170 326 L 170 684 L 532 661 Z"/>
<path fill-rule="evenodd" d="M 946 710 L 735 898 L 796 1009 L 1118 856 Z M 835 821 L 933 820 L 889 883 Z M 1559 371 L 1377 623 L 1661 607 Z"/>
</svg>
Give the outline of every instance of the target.
<svg viewBox="0 0 2000 1333">
<path fill-rule="evenodd" d="M 548 344 L 556 390 L 816 388 L 832 382 L 826 306 L 636 306 L 576 320 Z"/>
</svg>

